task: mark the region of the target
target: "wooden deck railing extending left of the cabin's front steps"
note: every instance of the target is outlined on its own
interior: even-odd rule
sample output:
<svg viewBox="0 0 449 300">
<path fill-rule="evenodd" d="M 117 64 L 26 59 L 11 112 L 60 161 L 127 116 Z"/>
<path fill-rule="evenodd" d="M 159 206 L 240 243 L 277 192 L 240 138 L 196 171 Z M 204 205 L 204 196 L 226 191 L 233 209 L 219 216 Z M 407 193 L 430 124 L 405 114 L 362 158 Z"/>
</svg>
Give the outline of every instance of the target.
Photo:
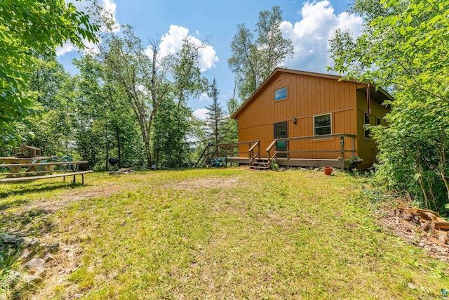
<svg viewBox="0 0 449 300">
<path fill-rule="evenodd" d="M 248 150 L 240 151 L 241 145 L 248 146 Z M 217 144 L 217 145 L 206 145 L 201 156 L 196 162 L 196 166 L 201 166 L 205 162 L 210 162 L 214 157 L 238 157 L 241 153 L 248 154 L 250 162 L 257 157 L 260 157 L 260 142 L 259 141 L 248 141 L 239 143 L 227 143 L 227 144 Z"/>
</svg>

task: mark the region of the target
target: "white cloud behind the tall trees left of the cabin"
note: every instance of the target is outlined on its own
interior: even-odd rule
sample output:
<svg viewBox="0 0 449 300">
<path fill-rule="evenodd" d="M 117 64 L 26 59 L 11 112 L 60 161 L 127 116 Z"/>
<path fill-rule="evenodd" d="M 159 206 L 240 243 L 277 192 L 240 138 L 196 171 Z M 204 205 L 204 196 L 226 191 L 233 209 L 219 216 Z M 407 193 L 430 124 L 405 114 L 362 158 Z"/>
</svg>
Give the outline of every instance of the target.
<svg viewBox="0 0 449 300">
<path fill-rule="evenodd" d="M 170 30 L 161 38 L 159 45 L 159 54 L 161 57 L 173 55 L 180 51 L 182 42 L 188 38 L 196 46 L 201 46 L 203 42 L 196 37 L 189 35 L 189 30 L 182 26 L 170 25 Z M 145 50 L 147 56 L 152 56 L 151 48 L 147 47 Z M 218 63 L 218 57 L 212 45 L 206 44 L 199 49 L 199 68 L 201 72 L 210 70 Z"/>
</svg>

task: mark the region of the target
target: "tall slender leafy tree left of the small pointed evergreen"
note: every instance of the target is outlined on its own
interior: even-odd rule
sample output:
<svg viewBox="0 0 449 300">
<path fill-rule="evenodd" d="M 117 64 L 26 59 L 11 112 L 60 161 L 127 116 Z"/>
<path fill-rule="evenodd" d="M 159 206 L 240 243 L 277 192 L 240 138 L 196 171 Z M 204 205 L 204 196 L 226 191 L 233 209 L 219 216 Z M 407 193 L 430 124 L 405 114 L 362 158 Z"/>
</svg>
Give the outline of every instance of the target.
<svg viewBox="0 0 449 300">
<path fill-rule="evenodd" d="M 155 115 L 153 141 L 155 162 L 161 167 L 182 167 L 190 161 L 188 138 L 192 138 L 194 119 L 187 100 L 208 89 L 199 68 L 203 46 L 206 42 L 195 43 L 186 37 L 180 51 L 168 58 L 173 81 Z"/>
</svg>

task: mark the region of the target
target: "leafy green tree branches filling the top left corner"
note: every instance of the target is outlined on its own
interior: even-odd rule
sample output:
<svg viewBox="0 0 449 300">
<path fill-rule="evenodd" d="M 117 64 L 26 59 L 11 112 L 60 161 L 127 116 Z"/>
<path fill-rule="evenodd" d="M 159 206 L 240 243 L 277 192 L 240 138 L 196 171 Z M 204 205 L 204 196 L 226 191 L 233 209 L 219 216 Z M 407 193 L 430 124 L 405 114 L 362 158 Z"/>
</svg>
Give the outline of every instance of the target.
<svg viewBox="0 0 449 300">
<path fill-rule="evenodd" d="M 36 63 L 34 51 L 51 53 L 65 41 L 83 48 L 83 38 L 97 41 L 98 26 L 63 0 L 0 2 L 0 144 L 18 141 L 11 127 L 15 119 L 32 114 L 36 93 L 27 82 Z"/>
</svg>

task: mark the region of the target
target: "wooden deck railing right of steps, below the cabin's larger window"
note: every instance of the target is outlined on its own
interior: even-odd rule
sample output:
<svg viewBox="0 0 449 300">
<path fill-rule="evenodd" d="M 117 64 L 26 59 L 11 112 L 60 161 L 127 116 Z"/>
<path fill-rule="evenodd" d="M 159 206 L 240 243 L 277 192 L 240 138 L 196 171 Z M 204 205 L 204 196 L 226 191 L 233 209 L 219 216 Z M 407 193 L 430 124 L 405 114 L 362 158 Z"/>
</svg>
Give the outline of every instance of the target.
<svg viewBox="0 0 449 300">
<path fill-rule="evenodd" d="M 340 138 L 340 149 L 339 150 L 290 150 L 290 141 L 304 141 L 304 140 L 326 140 L 330 138 Z M 347 150 L 345 148 L 345 138 L 351 139 L 351 149 Z M 286 142 L 286 150 L 278 151 L 274 149 L 274 145 L 278 142 Z M 290 154 L 292 153 L 340 153 L 340 157 L 344 159 L 344 154 L 347 152 L 352 152 L 353 156 L 356 156 L 356 136 L 347 133 L 337 133 L 337 134 L 326 134 L 323 136 L 299 136 L 295 138 L 276 138 L 269 144 L 268 148 L 265 150 L 267 152 L 268 164 L 276 159 L 278 154 L 286 154 L 286 159 L 290 159 Z"/>
</svg>

